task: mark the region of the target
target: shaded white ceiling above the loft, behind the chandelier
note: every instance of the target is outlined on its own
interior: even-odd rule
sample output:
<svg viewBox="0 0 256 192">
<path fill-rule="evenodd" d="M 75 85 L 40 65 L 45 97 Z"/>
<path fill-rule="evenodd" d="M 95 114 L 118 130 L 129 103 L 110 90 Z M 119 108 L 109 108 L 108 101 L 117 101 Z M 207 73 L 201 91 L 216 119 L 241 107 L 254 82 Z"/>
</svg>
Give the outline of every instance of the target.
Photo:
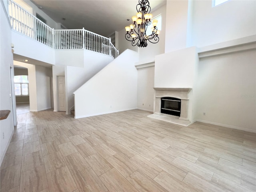
<svg viewBox="0 0 256 192">
<path fill-rule="evenodd" d="M 109 36 L 132 24 L 138 0 L 32 0 L 42 11 L 68 29 L 82 29 Z M 151 12 L 166 0 L 149 0 Z M 66 20 L 62 20 L 66 18 Z M 127 21 L 127 19 L 130 21 Z"/>
</svg>

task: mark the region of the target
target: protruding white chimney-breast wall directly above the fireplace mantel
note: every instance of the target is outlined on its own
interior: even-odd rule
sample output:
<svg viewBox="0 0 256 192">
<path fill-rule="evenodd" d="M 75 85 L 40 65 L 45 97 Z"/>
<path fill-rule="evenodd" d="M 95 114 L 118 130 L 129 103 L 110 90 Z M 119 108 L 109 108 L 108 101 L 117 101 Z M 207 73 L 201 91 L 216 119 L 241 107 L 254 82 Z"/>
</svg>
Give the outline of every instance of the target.
<svg viewBox="0 0 256 192">
<path fill-rule="evenodd" d="M 192 88 L 197 64 L 196 47 L 156 56 L 154 86 L 161 88 Z"/>
</svg>

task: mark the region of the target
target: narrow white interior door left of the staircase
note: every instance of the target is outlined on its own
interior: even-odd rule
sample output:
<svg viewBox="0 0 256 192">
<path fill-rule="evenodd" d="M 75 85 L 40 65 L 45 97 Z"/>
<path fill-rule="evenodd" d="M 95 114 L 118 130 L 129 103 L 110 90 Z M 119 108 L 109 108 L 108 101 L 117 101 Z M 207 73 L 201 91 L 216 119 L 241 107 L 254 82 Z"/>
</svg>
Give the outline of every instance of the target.
<svg viewBox="0 0 256 192">
<path fill-rule="evenodd" d="M 58 111 L 66 111 L 65 76 L 58 76 Z"/>
</svg>

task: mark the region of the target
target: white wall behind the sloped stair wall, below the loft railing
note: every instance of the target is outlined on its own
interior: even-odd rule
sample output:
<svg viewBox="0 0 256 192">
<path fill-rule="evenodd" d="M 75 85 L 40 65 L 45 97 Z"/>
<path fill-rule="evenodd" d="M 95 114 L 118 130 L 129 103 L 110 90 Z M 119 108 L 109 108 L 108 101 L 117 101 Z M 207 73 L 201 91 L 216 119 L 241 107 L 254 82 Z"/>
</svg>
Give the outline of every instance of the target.
<svg viewBox="0 0 256 192">
<path fill-rule="evenodd" d="M 111 56 L 99 54 L 88 50 L 83 50 L 84 66 L 66 66 L 66 113 L 70 114 L 70 109 L 74 106 L 73 92 L 88 81 L 92 76 L 113 61 Z"/>
</svg>

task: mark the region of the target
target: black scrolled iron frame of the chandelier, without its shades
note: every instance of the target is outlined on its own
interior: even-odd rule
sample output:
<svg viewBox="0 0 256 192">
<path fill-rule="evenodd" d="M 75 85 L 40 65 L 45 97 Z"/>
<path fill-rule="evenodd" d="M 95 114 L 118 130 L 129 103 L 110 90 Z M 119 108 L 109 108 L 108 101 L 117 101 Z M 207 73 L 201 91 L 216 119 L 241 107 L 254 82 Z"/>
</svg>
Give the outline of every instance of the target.
<svg viewBox="0 0 256 192">
<path fill-rule="evenodd" d="M 146 31 L 148 29 L 148 26 L 151 24 L 151 19 L 145 19 L 144 15 L 149 14 L 151 11 L 151 8 L 149 6 L 148 0 L 139 0 L 139 3 L 136 6 L 137 12 L 142 14 L 141 18 L 142 23 L 136 24 L 136 21 L 133 22 L 132 26 L 133 29 L 130 29 L 130 32 L 127 31 L 125 34 L 126 40 L 132 42 L 132 46 L 138 46 L 138 47 L 146 47 L 148 46 L 148 42 L 150 43 L 158 43 L 159 37 L 158 37 L 158 30 L 156 26 L 153 26 L 152 33 L 150 35 L 146 35 Z M 133 35 L 135 34 L 135 36 Z"/>
</svg>

